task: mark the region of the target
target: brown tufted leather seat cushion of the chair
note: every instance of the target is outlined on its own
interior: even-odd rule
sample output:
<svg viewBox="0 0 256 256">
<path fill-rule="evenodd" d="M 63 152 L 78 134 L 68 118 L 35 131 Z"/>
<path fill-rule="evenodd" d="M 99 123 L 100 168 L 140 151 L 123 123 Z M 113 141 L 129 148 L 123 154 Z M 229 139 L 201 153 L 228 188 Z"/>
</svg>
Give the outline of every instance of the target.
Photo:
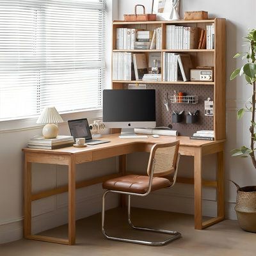
<svg viewBox="0 0 256 256">
<path fill-rule="evenodd" d="M 148 191 L 148 176 L 141 175 L 127 175 L 122 177 L 117 177 L 115 179 L 106 180 L 102 187 L 104 189 L 123 191 L 128 193 L 138 193 L 144 194 Z M 171 182 L 168 179 L 154 177 L 152 180 L 151 191 L 168 188 L 171 186 Z"/>
</svg>

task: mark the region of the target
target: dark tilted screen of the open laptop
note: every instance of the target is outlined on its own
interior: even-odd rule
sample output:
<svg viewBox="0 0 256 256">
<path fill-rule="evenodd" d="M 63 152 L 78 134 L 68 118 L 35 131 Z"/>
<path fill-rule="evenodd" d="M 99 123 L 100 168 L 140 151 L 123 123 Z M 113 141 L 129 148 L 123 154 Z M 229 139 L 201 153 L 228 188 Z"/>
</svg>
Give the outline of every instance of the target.
<svg viewBox="0 0 256 256">
<path fill-rule="evenodd" d="M 71 136 L 76 138 L 85 138 L 85 140 L 92 140 L 92 134 L 87 121 L 87 118 L 69 120 L 68 127 L 70 129 Z"/>
</svg>

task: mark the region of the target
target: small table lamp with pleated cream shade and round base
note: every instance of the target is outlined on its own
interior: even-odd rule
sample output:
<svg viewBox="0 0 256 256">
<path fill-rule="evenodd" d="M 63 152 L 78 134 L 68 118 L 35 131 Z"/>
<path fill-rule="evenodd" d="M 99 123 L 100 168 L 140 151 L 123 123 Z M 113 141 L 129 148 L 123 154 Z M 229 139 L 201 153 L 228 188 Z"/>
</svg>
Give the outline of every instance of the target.
<svg viewBox="0 0 256 256">
<path fill-rule="evenodd" d="M 45 139 L 53 139 L 58 136 L 57 123 L 64 122 L 60 114 L 54 107 L 46 107 L 38 117 L 36 124 L 45 124 L 43 128 L 43 136 Z"/>
</svg>

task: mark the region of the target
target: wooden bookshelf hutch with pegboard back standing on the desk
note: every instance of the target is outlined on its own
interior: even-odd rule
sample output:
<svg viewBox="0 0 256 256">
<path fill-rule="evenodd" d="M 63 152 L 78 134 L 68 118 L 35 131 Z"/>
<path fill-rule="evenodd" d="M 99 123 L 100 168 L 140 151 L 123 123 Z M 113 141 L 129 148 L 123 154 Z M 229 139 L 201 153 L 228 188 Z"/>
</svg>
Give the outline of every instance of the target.
<svg viewBox="0 0 256 256">
<path fill-rule="evenodd" d="M 215 38 L 214 49 L 186 49 L 173 50 L 166 49 L 166 25 L 190 26 L 201 29 L 206 29 L 207 25 L 214 24 Z M 162 49 L 152 50 L 120 50 L 116 49 L 116 28 L 136 28 L 152 30 L 162 28 Z M 198 33 L 198 36 L 200 33 Z M 199 40 L 199 38 L 197 38 Z M 172 109 L 188 111 L 200 110 L 200 123 L 186 124 L 172 124 L 173 129 L 177 130 L 180 135 L 191 136 L 193 132 L 199 129 L 213 130 L 215 140 L 225 139 L 225 19 L 207 19 L 207 20 L 171 20 L 171 21 L 148 21 L 148 22 L 113 22 L 113 52 L 140 52 L 146 55 L 149 52 L 161 52 L 161 64 L 163 67 L 163 53 L 164 52 L 180 52 L 191 55 L 193 67 L 213 67 L 214 80 L 212 82 L 196 82 L 196 81 L 121 81 L 113 80 L 113 89 L 128 88 L 128 84 L 147 84 L 147 88 L 155 88 L 157 91 L 157 126 L 166 126 L 170 124 Z M 194 93 L 189 95 L 198 95 L 199 103 L 192 106 L 192 104 L 174 104 L 170 103 L 171 111 L 167 112 L 163 106 L 163 98 L 165 95 L 172 95 L 173 90 L 179 92 L 186 91 Z M 211 97 L 214 100 L 214 116 L 204 115 L 204 100 Z M 185 106 L 186 105 L 186 106 Z"/>
</svg>

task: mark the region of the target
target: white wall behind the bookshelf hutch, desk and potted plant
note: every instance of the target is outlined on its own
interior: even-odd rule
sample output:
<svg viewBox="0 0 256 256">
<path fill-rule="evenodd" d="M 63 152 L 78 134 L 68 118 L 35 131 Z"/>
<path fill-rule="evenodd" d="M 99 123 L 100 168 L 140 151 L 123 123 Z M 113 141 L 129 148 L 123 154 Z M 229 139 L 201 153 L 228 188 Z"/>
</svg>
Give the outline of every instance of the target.
<svg viewBox="0 0 256 256">
<path fill-rule="evenodd" d="M 237 51 L 243 51 L 243 36 L 246 36 L 248 28 L 255 28 L 256 24 L 256 1 L 255 0 L 181 0 L 180 1 L 180 17 L 184 15 L 184 11 L 205 10 L 209 12 L 210 17 L 223 17 L 227 19 L 227 70 L 226 70 L 226 86 L 227 86 L 227 144 L 225 150 L 225 200 L 226 200 L 226 216 L 227 218 L 236 218 L 234 212 L 234 203 L 236 202 L 236 189 L 234 185 L 228 182 L 228 179 L 235 180 L 240 186 L 255 185 L 256 171 L 253 169 L 250 159 L 232 158 L 230 150 L 232 148 L 249 145 L 250 113 L 244 115 L 243 120 L 237 122 L 236 111 L 243 108 L 244 102 L 250 97 L 250 86 L 246 85 L 240 77 L 235 81 L 229 81 L 229 76 L 236 67 L 241 67 L 240 59 L 234 60 L 232 56 Z M 119 1 L 119 19 L 123 19 L 125 13 L 134 13 L 134 6 L 143 4 L 146 12 L 151 12 L 152 1 L 148 0 L 120 0 Z M 141 156 L 131 156 L 131 160 L 138 161 Z M 205 157 L 206 158 L 206 157 Z M 144 159 L 145 162 L 146 159 Z M 142 161 L 142 160 L 141 160 Z M 182 158 L 182 166 L 180 175 L 191 175 L 192 170 L 188 168 L 189 157 Z M 204 161 L 205 177 L 213 178 L 213 170 L 215 167 L 214 159 L 207 157 Z M 132 168 L 132 164 L 131 164 Z M 189 174 L 190 173 L 190 174 Z M 156 193 L 157 194 L 157 193 Z M 173 210 L 180 212 L 193 213 L 193 188 L 188 185 L 177 184 L 177 186 L 167 193 L 160 191 L 159 196 L 154 197 L 161 200 L 154 201 L 148 198 L 148 202 L 136 202 L 136 205 L 141 207 L 153 207 L 156 209 Z M 168 195 L 168 196 L 166 196 Z M 171 199 L 169 197 L 171 196 Z M 212 189 L 204 189 L 204 213 L 211 216 L 212 212 L 216 211 L 216 195 Z M 155 204 L 154 202 L 157 202 Z"/>
</svg>

